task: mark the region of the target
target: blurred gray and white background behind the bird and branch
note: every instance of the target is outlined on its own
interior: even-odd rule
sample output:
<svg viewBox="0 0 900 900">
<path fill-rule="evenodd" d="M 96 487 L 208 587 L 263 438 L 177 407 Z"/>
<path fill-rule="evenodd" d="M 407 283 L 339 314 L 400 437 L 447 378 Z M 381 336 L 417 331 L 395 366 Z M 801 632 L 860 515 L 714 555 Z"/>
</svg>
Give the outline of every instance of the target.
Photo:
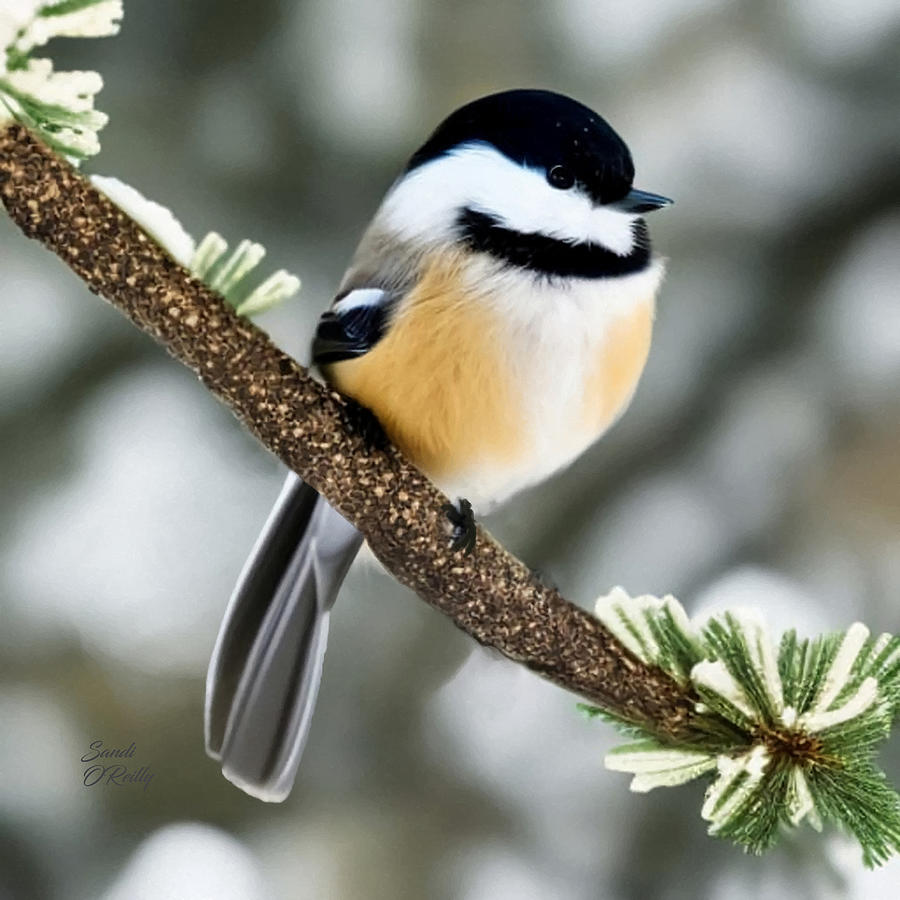
<svg viewBox="0 0 900 900">
<path fill-rule="evenodd" d="M 570 599 L 900 629 L 900 6 L 893 0 L 126 0 L 58 41 L 111 115 L 88 171 L 303 278 L 301 361 L 383 192 L 451 109 L 542 86 L 606 116 L 670 258 L 614 431 L 489 527 Z M 283 472 L 0 216 L 0 897 L 897 896 L 830 833 L 763 859 L 702 788 L 629 795 L 611 730 L 387 576 L 336 607 L 296 788 L 203 753 L 207 659 Z M 540 511 L 536 514 L 536 511 Z M 142 785 L 86 788 L 88 744 Z M 900 741 L 883 763 L 900 780 Z"/>
</svg>

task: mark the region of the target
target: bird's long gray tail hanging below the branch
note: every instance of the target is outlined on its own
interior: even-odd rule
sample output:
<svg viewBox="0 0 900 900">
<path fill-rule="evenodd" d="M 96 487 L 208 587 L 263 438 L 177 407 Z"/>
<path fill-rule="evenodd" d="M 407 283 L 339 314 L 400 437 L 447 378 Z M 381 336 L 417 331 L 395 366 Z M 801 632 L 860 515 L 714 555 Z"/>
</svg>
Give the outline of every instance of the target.
<svg viewBox="0 0 900 900">
<path fill-rule="evenodd" d="M 290 793 L 319 690 L 328 614 L 362 535 L 288 476 L 238 579 L 206 677 L 206 752 L 248 794 Z"/>
</svg>

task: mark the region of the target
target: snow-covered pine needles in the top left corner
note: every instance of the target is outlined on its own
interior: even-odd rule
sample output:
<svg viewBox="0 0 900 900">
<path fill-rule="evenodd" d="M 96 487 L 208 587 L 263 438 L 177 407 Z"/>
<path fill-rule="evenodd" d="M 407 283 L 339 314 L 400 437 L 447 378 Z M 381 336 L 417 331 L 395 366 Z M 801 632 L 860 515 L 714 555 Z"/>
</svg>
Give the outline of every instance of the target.
<svg viewBox="0 0 900 900">
<path fill-rule="evenodd" d="M 54 72 L 31 52 L 54 37 L 116 34 L 121 0 L 0 0 L 0 125 L 15 119 L 73 161 L 100 149 L 96 72 Z"/>
</svg>

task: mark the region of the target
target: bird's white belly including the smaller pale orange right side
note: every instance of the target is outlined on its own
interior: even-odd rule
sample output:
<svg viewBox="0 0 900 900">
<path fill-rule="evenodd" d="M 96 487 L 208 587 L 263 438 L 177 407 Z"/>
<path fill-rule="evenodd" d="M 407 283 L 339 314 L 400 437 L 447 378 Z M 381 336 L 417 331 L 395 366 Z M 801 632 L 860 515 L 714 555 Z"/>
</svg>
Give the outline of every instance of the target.
<svg viewBox="0 0 900 900">
<path fill-rule="evenodd" d="M 497 350 L 523 410 L 520 448 L 447 473 L 445 493 L 484 512 L 567 466 L 616 421 L 644 368 L 662 272 L 654 262 L 609 281 L 498 291 L 509 328 Z"/>
</svg>

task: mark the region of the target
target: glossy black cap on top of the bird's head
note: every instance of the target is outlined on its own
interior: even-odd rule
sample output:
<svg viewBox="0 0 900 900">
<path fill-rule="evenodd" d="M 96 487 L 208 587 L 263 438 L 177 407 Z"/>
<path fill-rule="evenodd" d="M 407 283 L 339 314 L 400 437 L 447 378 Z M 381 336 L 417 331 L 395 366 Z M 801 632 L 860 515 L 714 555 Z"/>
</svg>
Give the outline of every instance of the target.
<svg viewBox="0 0 900 900">
<path fill-rule="evenodd" d="M 515 90 L 467 103 L 415 152 L 406 171 L 461 144 L 490 144 L 519 165 L 574 177 L 596 203 L 621 200 L 634 164 L 625 142 L 592 109 L 552 91 Z"/>
</svg>

